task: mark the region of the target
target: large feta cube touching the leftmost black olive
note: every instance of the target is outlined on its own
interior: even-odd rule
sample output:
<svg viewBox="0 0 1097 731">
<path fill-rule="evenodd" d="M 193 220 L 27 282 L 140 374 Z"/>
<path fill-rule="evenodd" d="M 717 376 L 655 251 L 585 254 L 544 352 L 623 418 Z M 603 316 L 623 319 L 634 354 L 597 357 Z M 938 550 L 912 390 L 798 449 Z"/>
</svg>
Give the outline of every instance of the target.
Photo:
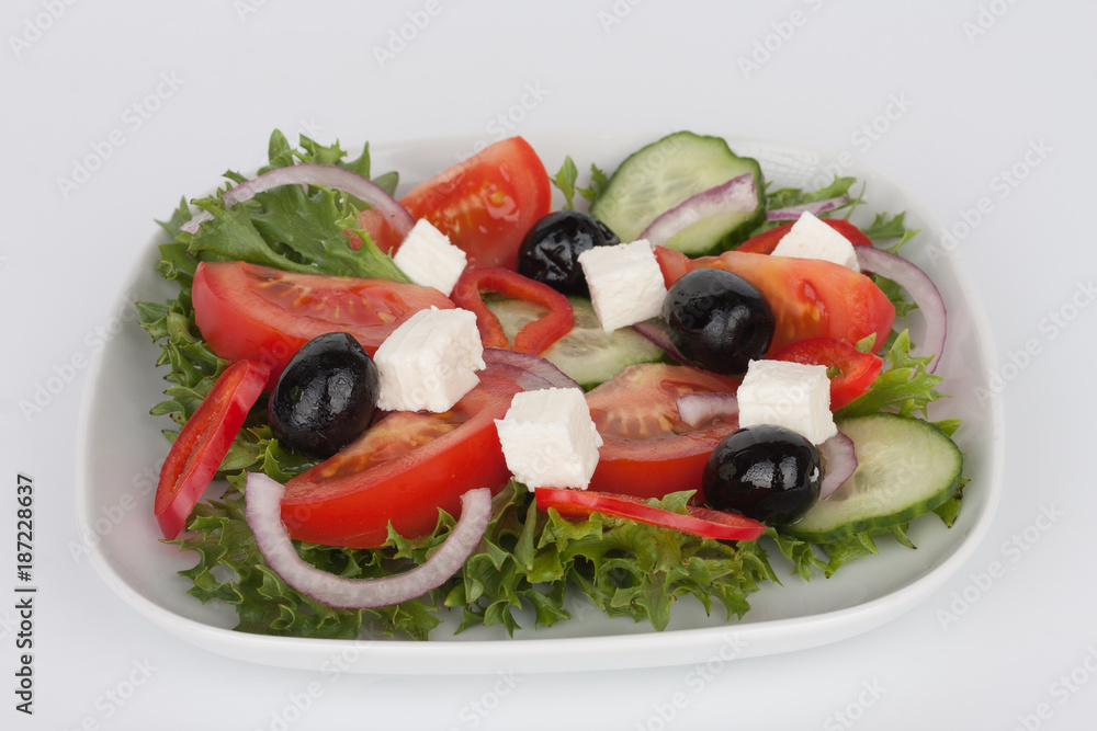
<svg viewBox="0 0 1097 731">
<path fill-rule="evenodd" d="M 392 332 L 373 356 L 377 407 L 442 412 L 479 382 L 486 367 L 476 316 L 468 310 L 419 310 Z"/>
</svg>

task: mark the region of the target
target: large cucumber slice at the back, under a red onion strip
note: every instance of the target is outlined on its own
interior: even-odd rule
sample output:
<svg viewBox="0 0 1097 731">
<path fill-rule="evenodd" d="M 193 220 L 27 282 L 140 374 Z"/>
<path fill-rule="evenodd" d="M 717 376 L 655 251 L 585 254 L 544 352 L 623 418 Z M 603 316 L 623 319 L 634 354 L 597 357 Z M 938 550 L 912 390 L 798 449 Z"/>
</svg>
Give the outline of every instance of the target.
<svg viewBox="0 0 1097 731">
<path fill-rule="evenodd" d="M 744 173 L 755 176 L 758 206 L 750 213 L 711 216 L 671 238 L 666 245 L 691 256 L 742 243 L 766 219 L 761 167 L 740 158 L 720 137 L 679 132 L 634 152 L 610 178 L 590 215 L 622 241 L 635 241 L 659 215 L 687 198 Z"/>
</svg>

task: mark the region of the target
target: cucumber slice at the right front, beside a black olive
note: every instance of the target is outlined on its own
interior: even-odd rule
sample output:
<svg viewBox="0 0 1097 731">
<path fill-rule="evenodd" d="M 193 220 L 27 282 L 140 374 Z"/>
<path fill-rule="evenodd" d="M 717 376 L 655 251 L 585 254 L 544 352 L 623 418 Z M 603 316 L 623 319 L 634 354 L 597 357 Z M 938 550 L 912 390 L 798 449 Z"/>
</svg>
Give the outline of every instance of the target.
<svg viewBox="0 0 1097 731">
<path fill-rule="evenodd" d="M 963 455 L 928 422 L 879 413 L 842 420 L 838 430 L 853 441 L 857 470 L 783 533 L 825 544 L 892 528 L 943 504 L 960 486 Z"/>
</svg>

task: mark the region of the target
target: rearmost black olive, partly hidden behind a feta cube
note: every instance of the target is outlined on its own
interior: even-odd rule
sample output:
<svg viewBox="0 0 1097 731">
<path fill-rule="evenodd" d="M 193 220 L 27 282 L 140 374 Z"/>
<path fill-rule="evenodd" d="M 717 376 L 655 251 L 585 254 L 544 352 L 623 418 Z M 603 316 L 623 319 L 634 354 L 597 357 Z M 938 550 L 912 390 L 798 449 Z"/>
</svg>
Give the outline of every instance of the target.
<svg viewBox="0 0 1097 731">
<path fill-rule="evenodd" d="M 557 210 L 539 219 L 518 248 L 518 273 L 565 295 L 588 295 L 579 254 L 621 243 L 602 221 L 578 210 Z"/>
</svg>

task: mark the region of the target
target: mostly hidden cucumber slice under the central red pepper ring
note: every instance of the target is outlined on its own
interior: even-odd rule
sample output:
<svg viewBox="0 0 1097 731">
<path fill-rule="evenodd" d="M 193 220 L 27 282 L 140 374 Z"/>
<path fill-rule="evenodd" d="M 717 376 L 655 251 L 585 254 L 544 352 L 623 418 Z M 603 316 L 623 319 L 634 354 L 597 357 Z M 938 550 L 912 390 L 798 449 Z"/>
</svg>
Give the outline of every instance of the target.
<svg viewBox="0 0 1097 731">
<path fill-rule="evenodd" d="M 541 356 L 585 389 L 609 380 L 625 366 L 663 358 L 663 351 L 632 328 L 619 328 L 613 332 L 602 330 L 589 299 L 568 297 L 568 300 L 575 313 L 575 327 Z M 540 305 L 520 299 L 488 298 L 486 304 L 499 318 L 511 342 L 522 327 L 546 312 Z"/>
</svg>

